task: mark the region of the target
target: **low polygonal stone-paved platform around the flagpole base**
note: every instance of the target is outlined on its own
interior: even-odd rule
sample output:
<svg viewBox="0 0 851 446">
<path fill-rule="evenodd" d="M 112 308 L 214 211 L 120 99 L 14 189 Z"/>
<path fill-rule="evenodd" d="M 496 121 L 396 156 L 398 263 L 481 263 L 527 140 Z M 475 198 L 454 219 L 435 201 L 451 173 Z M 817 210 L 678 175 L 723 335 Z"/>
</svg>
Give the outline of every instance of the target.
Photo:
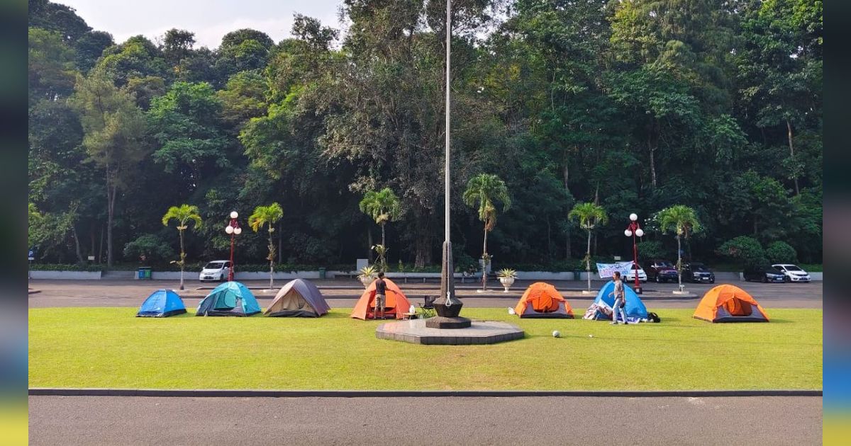
<svg viewBox="0 0 851 446">
<path fill-rule="evenodd" d="M 413 319 L 381 324 L 375 337 L 426 345 L 495 344 L 522 339 L 523 330 L 494 320 L 474 320 L 469 328 L 441 330 L 426 327 L 426 319 Z"/>
</svg>

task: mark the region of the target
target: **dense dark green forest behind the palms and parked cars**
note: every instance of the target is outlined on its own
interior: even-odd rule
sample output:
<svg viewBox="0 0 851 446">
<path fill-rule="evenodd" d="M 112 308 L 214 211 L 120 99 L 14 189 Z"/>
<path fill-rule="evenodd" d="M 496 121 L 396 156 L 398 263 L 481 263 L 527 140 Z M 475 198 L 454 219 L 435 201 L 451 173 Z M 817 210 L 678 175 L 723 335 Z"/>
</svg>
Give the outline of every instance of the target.
<svg viewBox="0 0 851 446">
<path fill-rule="evenodd" d="M 821 261 L 821 2 L 453 3 L 459 268 L 485 235 L 497 268 L 625 256 L 631 212 L 648 255 L 676 258 L 651 216 L 677 205 L 702 226 L 678 240 L 685 257 Z M 242 263 L 353 266 L 379 230 L 358 203 L 389 188 L 387 263 L 436 263 L 443 8 L 341 0 L 345 31 L 296 14 L 281 42 L 241 29 L 197 48 L 180 29 L 113 42 L 73 8 L 30 0 L 38 260 L 133 263 L 170 246 L 201 262 L 225 255 L 232 210 L 278 203 L 265 234 L 239 236 Z M 461 200 L 483 174 L 511 196 L 488 234 Z M 577 202 L 608 225 L 581 228 Z M 185 246 L 160 221 L 174 203 L 209 223 Z"/>
</svg>

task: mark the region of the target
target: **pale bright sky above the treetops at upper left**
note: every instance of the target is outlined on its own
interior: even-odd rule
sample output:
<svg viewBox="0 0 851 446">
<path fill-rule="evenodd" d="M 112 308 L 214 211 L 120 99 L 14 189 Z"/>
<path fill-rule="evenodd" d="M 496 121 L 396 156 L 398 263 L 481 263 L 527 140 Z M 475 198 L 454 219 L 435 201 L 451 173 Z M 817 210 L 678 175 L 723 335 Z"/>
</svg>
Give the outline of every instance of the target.
<svg viewBox="0 0 851 446">
<path fill-rule="evenodd" d="M 315 17 L 339 28 L 342 0 L 55 0 L 77 9 L 94 30 L 117 43 L 143 35 L 155 40 L 178 28 L 195 33 L 195 48 L 216 48 L 221 37 L 240 28 L 266 32 L 273 41 L 290 37 L 293 14 Z"/>
</svg>

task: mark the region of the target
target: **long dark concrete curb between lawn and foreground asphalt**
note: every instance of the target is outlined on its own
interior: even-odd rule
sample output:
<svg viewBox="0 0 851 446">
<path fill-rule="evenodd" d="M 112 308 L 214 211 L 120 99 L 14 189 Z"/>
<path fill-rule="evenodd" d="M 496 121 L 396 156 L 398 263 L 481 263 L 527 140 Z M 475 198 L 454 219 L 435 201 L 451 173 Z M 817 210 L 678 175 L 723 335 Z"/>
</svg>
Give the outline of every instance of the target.
<svg viewBox="0 0 851 446">
<path fill-rule="evenodd" d="M 226 389 L 108 389 L 30 387 L 30 396 L 63 397 L 191 397 L 191 398 L 435 398 L 435 397 L 821 397 L 821 390 L 665 390 L 665 391 L 537 391 L 537 390 L 226 390 Z"/>
</svg>

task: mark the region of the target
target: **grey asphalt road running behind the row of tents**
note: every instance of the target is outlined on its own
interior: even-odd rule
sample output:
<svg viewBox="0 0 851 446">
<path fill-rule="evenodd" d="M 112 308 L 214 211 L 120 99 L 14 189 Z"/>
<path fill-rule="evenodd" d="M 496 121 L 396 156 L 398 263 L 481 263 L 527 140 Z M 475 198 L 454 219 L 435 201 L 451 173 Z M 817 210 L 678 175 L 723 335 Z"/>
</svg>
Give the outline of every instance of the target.
<svg viewBox="0 0 851 446">
<path fill-rule="evenodd" d="M 277 281 L 277 286 L 283 286 L 283 280 Z M 314 280 L 323 290 L 328 304 L 332 308 L 352 308 L 355 299 L 363 288 L 353 279 Z M 594 296 L 583 296 L 583 282 L 556 281 L 552 282 L 559 290 L 563 290 L 568 301 L 574 308 L 587 308 L 593 302 Z M 266 287 L 268 282 L 248 281 L 251 287 Z M 592 288 L 599 288 L 603 282 L 593 282 Z M 173 280 L 139 281 L 139 280 L 30 280 L 31 290 L 39 292 L 29 295 L 31 308 L 43 307 L 138 307 L 151 291 L 157 288 L 177 289 L 179 282 Z M 184 297 L 187 307 L 196 307 L 208 290 L 198 290 L 199 286 L 215 284 L 200 284 L 197 280 L 187 280 L 186 290 L 179 294 Z M 408 295 L 411 302 L 422 302 L 423 296 L 437 294 L 439 284 L 399 284 Z M 458 288 L 459 296 L 468 308 L 505 308 L 517 304 L 517 299 L 523 293 L 528 282 L 518 281 L 511 292 L 502 293 L 499 288 L 488 296 L 482 296 L 471 285 Z M 822 308 L 822 282 L 808 284 L 761 284 L 754 282 L 736 282 L 745 291 L 751 293 L 765 308 Z M 649 308 L 694 308 L 697 298 L 714 285 L 688 284 L 686 289 L 694 293 L 689 299 L 673 298 L 671 291 L 677 289 L 676 284 L 648 283 L 644 297 Z M 260 305 L 269 302 L 277 290 L 255 290 L 254 294 L 260 299 Z M 664 297 L 664 299 L 658 299 Z"/>
</svg>

